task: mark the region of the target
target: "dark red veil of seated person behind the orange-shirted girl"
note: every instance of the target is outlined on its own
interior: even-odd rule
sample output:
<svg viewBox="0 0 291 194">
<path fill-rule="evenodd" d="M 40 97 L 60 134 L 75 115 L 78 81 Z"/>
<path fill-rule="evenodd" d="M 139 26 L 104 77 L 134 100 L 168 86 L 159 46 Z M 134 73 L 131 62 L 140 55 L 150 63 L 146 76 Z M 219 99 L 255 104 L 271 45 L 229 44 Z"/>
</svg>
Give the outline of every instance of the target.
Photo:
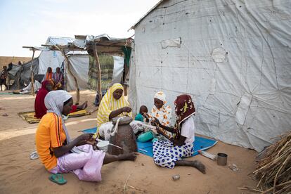
<svg viewBox="0 0 291 194">
<path fill-rule="evenodd" d="M 46 94 L 48 91 L 46 90 L 46 85 L 51 84 L 50 81 L 45 80 L 44 82 L 41 82 L 41 89 L 37 92 L 37 97 L 34 101 L 34 111 L 35 111 L 35 117 L 41 119 L 44 115 L 46 115 L 46 105 L 44 105 L 44 98 L 46 97 Z"/>
</svg>

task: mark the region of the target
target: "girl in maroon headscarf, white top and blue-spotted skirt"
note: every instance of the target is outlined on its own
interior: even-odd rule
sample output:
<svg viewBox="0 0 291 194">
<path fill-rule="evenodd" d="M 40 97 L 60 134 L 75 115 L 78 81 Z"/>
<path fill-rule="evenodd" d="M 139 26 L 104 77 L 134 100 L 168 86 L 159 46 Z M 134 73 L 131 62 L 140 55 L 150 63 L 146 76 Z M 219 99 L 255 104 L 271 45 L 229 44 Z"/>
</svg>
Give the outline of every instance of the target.
<svg viewBox="0 0 291 194">
<path fill-rule="evenodd" d="M 155 119 L 157 132 L 167 137 L 163 130 L 169 131 L 174 137 L 169 141 L 157 140 L 153 143 L 153 158 L 155 164 L 169 169 L 175 166 L 195 167 L 205 174 L 205 166 L 198 160 L 183 160 L 182 157 L 190 157 L 193 154 L 193 142 L 195 135 L 195 124 L 193 115 L 195 107 L 189 95 L 178 96 L 175 101 L 176 124 L 174 128 L 166 127 Z"/>
</svg>

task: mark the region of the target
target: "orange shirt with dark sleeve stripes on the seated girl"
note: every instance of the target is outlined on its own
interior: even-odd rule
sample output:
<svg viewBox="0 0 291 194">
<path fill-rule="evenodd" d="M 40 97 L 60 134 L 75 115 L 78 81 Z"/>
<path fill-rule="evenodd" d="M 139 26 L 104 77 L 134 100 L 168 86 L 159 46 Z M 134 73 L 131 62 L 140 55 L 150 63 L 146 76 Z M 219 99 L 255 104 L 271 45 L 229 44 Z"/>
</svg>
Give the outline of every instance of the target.
<svg viewBox="0 0 291 194">
<path fill-rule="evenodd" d="M 35 135 L 37 153 L 46 169 L 50 170 L 56 167 L 58 159 L 53 154 L 53 148 L 62 146 L 65 138 L 62 119 L 52 112 L 46 113 L 41 118 Z"/>
</svg>

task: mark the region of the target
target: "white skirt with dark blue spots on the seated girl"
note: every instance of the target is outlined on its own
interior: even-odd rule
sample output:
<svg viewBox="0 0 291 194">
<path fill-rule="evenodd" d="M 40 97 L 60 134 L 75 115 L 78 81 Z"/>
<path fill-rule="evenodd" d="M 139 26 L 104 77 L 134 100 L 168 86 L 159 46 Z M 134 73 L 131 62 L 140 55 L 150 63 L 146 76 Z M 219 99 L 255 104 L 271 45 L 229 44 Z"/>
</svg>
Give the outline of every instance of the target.
<svg viewBox="0 0 291 194">
<path fill-rule="evenodd" d="M 174 168 L 175 162 L 182 157 L 190 157 L 193 154 L 193 144 L 184 143 L 179 146 L 169 141 L 155 141 L 153 143 L 153 158 L 155 164 L 169 169 Z"/>
</svg>

